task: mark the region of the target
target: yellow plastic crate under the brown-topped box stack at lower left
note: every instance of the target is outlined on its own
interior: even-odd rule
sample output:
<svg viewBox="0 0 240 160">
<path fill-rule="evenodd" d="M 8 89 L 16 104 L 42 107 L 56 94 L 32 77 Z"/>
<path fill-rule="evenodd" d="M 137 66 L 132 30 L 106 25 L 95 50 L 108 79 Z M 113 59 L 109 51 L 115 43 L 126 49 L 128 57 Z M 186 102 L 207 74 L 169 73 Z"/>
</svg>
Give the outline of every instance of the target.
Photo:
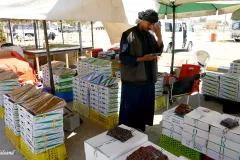
<svg viewBox="0 0 240 160">
<path fill-rule="evenodd" d="M 25 142 L 20 139 L 20 153 L 22 153 L 27 160 L 68 160 L 65 144 L 40 154 L 33 154 Z"/>
</svg>

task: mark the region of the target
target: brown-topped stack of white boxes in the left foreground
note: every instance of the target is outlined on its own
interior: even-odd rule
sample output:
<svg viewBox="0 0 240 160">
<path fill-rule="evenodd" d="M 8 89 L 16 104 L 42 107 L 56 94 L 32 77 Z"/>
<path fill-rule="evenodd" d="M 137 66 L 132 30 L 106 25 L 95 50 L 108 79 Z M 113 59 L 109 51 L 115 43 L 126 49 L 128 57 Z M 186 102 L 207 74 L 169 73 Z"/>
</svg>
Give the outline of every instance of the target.
<svg viewBox="0 0 240 160">
<path fill-rule="evenodd" d="M 21 136 L 33 154 L 64 143 L 64 100 L 25 85 L 4 95 L 4 103 L 6 126 Z"/>
</svg>

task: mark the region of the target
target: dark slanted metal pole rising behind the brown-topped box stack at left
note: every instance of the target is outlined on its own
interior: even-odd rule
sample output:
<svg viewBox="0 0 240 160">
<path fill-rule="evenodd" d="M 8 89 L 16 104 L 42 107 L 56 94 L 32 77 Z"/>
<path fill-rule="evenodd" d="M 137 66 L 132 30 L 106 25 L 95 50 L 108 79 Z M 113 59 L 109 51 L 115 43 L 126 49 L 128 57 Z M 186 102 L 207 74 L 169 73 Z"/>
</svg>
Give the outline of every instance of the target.
<svg viewBox="0 0 240 160">
<path fill-rule="evenodd" d="M 49 51 L 49 44 L 48 44 L 48 35 L 47 35 L 47 23 L 46 20 L 43 20 L 43 30 L 44 30 L 44 38 L 46 43 L 46 52 L 47 52 L 47 60 L 48 60 L 48 68 L 49 68 L 49 76 L 50 76 L 50 84 L 52 94 L 55 94 L 54 82 L 53 82 L 53 74 L 52 74 L 52 59 Z"/>
</svg>

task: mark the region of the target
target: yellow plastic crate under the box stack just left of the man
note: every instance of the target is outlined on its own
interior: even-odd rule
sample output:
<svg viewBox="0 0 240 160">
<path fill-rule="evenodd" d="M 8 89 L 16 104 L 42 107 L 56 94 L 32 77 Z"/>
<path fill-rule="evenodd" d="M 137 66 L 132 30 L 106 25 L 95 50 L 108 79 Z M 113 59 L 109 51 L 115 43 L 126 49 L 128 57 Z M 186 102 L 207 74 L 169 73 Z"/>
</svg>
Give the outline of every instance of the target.
<svg viewBox="0 0 240 160">
<path fill-rule="evenodd" d="M 104 116 L 93 109 L 90 109 L 90 119 L 98 123 L 107 130 L 110 130 L 118 125 L 118 114 Z"/>
</svg>

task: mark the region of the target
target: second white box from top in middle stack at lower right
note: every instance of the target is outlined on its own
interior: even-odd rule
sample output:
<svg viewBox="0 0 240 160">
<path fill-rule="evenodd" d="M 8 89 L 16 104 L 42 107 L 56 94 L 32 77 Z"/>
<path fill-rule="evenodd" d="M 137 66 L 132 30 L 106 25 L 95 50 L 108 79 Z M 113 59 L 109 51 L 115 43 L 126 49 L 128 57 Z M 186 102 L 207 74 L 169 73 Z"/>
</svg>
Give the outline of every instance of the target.
<svg viewBox="0 0 240 160">
<path fill-rule="evenodd" d="M 201 130 L 199 128 L 190 126 L 186 123 L 183 125 L 183 130 L 185 132 L 190 133 L 190 134 L 196 134 L 198 137 L 203 138 L 203 139 L 208 139 L 208 136 L 209 136 L 209 132 L 206 132 L 206 131 Z"/>
</svg>

